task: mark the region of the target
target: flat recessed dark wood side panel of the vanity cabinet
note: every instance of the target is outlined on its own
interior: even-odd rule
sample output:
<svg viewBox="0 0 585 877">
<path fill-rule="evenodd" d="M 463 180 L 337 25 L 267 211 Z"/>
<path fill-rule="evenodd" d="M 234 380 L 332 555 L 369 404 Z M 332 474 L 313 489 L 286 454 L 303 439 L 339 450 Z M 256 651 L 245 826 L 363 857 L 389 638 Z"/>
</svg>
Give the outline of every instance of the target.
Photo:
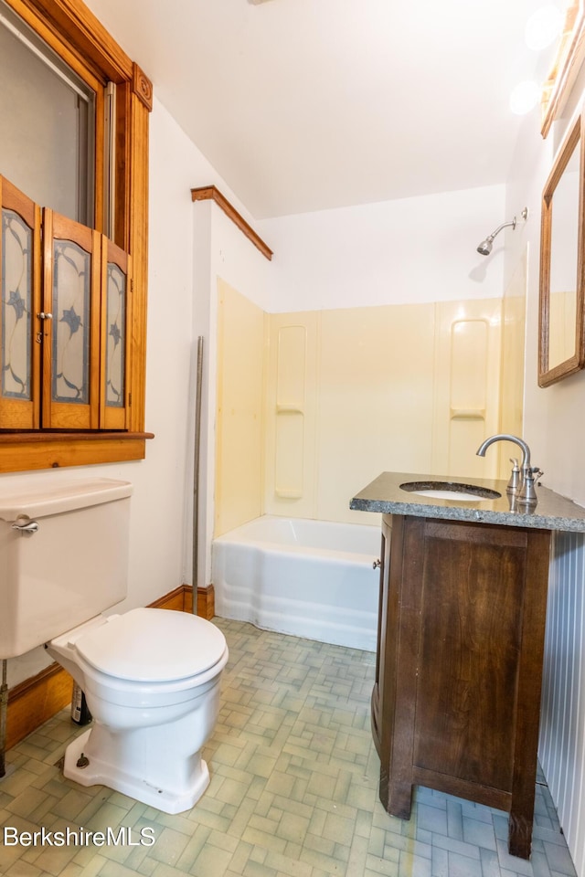
<svg viewBox="0 0 585 877">
<path fill-rule="evenodd" d="M 511 791 L 526 540 L 428 529 L 414 764 Z"/>
</svg>

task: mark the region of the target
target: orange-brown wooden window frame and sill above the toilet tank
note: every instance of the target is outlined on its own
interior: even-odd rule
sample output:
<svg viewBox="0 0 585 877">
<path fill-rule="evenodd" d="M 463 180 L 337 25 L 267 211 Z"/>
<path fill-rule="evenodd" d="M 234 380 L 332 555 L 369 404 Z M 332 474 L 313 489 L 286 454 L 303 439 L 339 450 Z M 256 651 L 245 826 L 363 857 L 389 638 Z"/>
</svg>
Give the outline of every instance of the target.
<svg viewBox="0 0 585 877">
<path fill-rule="evenodd" d="M 117 231 L 115 242 L 133 259 L 133 312 L 131 328 L 132 374 L 129 392 L 130 441 L 117 439 L 87 442 L 71 432 L 58 442 L 58 461 L 49 454 L 39 455 L 44 447 L 33 434 L 20 433 L 13 446 L 0 442 L 0 471 L 43 469 L 55 465 L 79 466 L 118 460 L 142 459 L 144 440 L 132 433 L 144 433 L 146 309 L 148 279 L 148 121 L 152 109 L 152 82 L 110 36 L 101 22 L 81 0 L 6 0 L 51 48 L 73 69 L 92 73 L 102 84 L 112 80 L 118 85 L 118 127 L 124 132 L 123 150 L 117 153 L 116 196 Z M 123 153 L 123 154 L 122 154 Z M 96 223 L 98 230 L 101 222 Z M 47 439 L 50 445 L 55 439 Z M 142 443 L 142 451 L 136 442 Z M 135 456 L 128 457 L 134 447 Z M 85 449 L 80 460 L 80 447 Z M 115 449 L 122 456 L 115 456 Z M 123 452 L 122 452 L 123 448 Z M 17 449 L 17 450 L 16 450 Z M 90 449 L 90 452 L 88 450 Z M 113 456 L 112 456 L 113 455 Z"/>
</svg>

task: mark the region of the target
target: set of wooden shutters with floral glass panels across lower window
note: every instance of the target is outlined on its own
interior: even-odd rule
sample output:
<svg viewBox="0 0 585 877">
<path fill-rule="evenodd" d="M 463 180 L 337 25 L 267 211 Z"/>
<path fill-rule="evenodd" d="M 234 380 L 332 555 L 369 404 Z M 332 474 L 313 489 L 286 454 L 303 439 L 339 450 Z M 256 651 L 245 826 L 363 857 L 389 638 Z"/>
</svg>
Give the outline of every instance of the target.
<svg viewBox="0 0 585 877">
<path fill-rule="evenodd" d="M 2 176 L 0 201 L 0 430 L 128 429 L 130 256 Z"/>
</svg>

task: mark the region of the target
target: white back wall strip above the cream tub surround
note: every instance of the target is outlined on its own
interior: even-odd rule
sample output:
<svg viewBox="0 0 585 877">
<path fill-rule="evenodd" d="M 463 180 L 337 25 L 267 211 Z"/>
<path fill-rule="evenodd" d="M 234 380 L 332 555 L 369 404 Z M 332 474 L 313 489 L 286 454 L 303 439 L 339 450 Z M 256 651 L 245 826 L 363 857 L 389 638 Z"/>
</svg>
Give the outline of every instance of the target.
<svg viewBox="0 0 585 877">
<path fill-rule="evenodd" d="M 501 297 L 510 232 L 489 259 L 476 248 L 505 218 L 505 186 L 492 185 L 265 219 L 256 228 L 274 249 L 269 310 Z"/>
</svg>

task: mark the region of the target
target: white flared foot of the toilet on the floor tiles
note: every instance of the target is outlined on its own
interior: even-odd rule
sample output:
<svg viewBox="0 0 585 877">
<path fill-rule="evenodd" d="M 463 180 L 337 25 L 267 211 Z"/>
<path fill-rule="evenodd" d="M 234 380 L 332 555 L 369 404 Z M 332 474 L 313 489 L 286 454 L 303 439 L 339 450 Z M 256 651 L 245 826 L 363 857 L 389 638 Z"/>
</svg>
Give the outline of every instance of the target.
<svg viewBox="0 0 585 877">
<path fill-rule="evenodd" d="M 189 787 L 179 793 L 155 787 L 142 778 L 126 774 L 119 766 L 108 764 L 91 753 L 91 746 L 88 746 L 91 731 L 92 728 L 77 737 L 65 751 L 63 775 L 80 786 L 107 786 L 149 807 L 175 814 L 194 807 L 209 785 L 209 770 L 202 758 Z M 79 767 L 78 762 L 83 754 L 88 756 L 89 761 L 87 766 Z"/>
</svg>

